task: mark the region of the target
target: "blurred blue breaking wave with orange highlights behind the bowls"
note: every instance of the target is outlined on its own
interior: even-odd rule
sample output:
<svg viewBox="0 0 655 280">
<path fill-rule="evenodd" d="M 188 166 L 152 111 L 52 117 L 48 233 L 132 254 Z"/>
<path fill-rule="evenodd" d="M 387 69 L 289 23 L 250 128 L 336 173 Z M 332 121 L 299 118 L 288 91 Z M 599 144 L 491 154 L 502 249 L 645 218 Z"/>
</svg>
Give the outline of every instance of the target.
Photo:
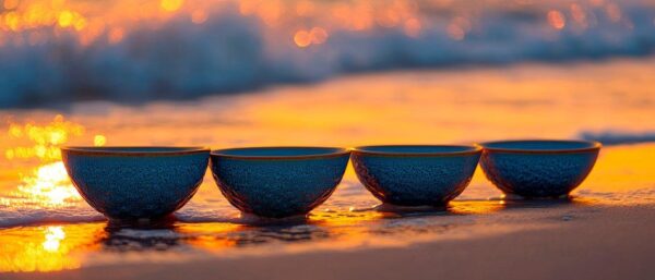
<svg viewBox="0 0 655 280">
<path fill-rule="evenodd" d="M 0 10 L 0 108 L 653 50 L 647 0 L 10 0 Z"/>
</svg>

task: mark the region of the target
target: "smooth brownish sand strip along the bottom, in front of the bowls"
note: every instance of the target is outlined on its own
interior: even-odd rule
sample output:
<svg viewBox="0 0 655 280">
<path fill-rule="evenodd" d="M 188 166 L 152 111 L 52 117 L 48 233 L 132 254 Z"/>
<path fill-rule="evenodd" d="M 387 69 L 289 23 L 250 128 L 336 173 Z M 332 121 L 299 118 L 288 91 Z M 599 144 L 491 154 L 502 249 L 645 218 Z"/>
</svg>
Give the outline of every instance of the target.
<svg viewBox="0 0 655 280">
<path fill-rule="evenodd" d="M 600 207 L 552 227 L 402 248 L 99 266 L 2 279 L 652 279 L 654 206 Z M 403 236 L 397 236 L 402 239 Z"/>
</svg>

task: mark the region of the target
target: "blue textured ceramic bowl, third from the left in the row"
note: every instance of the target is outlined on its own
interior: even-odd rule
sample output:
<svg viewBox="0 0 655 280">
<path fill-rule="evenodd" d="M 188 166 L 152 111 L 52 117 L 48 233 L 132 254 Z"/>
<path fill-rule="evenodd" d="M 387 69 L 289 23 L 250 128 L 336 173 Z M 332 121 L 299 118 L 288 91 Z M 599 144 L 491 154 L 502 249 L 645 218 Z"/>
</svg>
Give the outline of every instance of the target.
<svg viewBox="0 0 655 280">
<path fill-rule="evenodd" d="M 353 167 L 383 203 L 443 206 L 466 188 L 480 151 L 478 146 L 366 146 L 353 150 Z"/>
</svg>

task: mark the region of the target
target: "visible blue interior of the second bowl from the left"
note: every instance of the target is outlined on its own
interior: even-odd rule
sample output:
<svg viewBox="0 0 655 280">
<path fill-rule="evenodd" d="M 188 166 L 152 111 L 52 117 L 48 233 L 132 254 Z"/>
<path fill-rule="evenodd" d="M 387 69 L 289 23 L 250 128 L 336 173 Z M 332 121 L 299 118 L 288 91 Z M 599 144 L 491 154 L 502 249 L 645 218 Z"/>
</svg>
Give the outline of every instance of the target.
<svg viewBox="0 0 655 280">
<path fill-rule="evenodd" d="M 228 157 L 308 157 L 327 156 L 345 153 L 344 148 L 333 147 L 254 147 L 254 148 L 230 148 L 213 150 L 212 155 Z"/>
</svg>

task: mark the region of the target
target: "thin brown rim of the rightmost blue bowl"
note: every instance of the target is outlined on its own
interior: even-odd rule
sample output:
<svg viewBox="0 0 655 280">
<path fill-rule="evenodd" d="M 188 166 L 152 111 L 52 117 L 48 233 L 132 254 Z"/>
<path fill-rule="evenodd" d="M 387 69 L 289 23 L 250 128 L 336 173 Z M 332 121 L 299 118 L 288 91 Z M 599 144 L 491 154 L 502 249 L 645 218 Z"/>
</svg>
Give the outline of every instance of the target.
<svg viewBox="0 0 655 280">
<path fill-rule="evenodd" d="M 571 143 L 571 144 L 587 144 L 586 147 L 581 148 L 558 148 L 558 149 L 526 149 L 526 148 L 493 148 L 489 147 L 491 144 L 500 143 L 520 143 L 520 142 L 551 142 L 551 143 Z M 599 150 L 603 144 L 597 141 L 582 141 L 582 139 L 508 139 L 508 141 L 490 141 L 478 143 L 485 151 L 493 153 L 512 153 L 512 154 L 575 154 Z"/>
</svg>

